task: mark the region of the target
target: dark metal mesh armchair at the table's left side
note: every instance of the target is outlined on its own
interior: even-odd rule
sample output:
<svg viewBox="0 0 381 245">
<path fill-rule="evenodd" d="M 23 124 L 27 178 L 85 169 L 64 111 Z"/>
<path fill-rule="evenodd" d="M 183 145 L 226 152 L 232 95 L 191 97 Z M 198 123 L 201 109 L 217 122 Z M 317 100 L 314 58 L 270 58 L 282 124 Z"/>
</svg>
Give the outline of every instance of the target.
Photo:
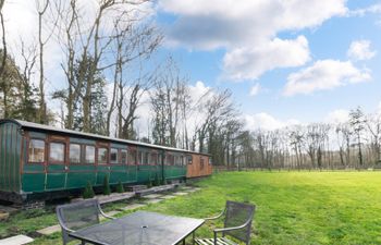
<svg viewBox="0 0 381 245">
<path fill-rule="evenodd" d="M 74 240 L 69 236 L 71 232 L 99 223 L 99 215 L 114 219 L 102 211 L 97 199 L 61 205 L 56 208 L 56 211 L 62 230 L 63 245 Z"/>
</svg>

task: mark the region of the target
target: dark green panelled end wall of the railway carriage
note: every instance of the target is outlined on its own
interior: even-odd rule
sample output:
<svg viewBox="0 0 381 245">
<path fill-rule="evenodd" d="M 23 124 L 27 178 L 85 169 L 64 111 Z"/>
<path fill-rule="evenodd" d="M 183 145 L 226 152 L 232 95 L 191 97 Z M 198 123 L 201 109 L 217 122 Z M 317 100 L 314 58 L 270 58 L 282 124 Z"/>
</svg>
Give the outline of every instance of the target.
<svg viewBox="0 0 381 245">
<path fill-rule="evenodd" d="M 21 144 L 16 124 L 0 124 L 0 191 L 20 193 Z"/>
</svg>

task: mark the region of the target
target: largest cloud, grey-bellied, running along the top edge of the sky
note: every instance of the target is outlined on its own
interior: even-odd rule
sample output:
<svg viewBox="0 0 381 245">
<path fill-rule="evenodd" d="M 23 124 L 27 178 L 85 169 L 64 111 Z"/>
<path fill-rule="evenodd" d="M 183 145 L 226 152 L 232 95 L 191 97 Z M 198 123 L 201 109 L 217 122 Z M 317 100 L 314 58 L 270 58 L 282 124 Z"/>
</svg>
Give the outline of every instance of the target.
<svg viewBox="0 0 381 245">
<path fill-rule="evenodd" d="M 345 0 L 161 0 L 159 9 L 177 16 L 168 29 L 170 41 L 197 49 L 255 46 L 347 12 Z"/>
</svg>

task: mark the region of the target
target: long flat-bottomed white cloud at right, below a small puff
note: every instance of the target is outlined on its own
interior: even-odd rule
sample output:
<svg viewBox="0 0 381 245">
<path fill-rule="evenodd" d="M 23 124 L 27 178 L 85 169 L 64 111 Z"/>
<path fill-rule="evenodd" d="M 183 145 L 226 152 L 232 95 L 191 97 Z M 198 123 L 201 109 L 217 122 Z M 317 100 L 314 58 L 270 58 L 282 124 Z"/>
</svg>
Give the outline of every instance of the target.
<svg viewBox="0 0 381 245">
<path fill-rule="evenodd" d="M 290 74 L 283 94 L 307 95 L 369 79 L 371 79 L 370 72 L 355 68 L 351 61 L 318 60 L 312 65 Z"/>
</svg>

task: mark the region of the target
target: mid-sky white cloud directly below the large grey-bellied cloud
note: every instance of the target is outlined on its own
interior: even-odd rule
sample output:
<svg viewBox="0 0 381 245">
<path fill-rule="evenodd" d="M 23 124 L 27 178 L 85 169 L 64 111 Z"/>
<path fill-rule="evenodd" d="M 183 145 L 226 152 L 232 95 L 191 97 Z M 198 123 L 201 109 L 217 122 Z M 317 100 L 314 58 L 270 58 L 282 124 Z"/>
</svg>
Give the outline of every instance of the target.
<svg viewBox="0 0 381 245">
<path fill-rule="evenodd" d="M 295 40 L 275 38 L 255 47 L 233 49 L 223 58 L 225 76 L 235 79 L 258 78 L 275 68 L 293 68 L 310 60 L 305 36 Z"/>
</svg>

